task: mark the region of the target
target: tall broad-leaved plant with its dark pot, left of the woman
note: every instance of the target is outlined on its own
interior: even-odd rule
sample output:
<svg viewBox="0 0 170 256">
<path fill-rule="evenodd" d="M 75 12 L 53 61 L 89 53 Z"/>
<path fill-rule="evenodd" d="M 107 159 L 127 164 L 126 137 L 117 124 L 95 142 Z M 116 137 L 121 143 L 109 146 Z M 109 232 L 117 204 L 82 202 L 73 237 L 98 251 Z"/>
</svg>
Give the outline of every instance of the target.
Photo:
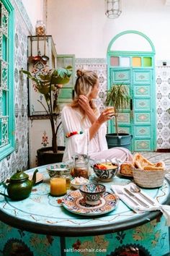
<svg viewBox="0 0 170 256">
<path fill-rule="evenodd" d="M 45 69 L 37 77 L 27 70 L 22 69 L 20 72 L 27 74 L 35 84 L 38 93 L 41 93 L 45 98 L 45 103 L 39 101 L 50 120 L 52 132 L 52 147 L 40 148 L 37 150 L 38 165 L 47 163 L 56 163 L 62 161 L 63 152 L 58 153 L 57 133 L 61 122 L 57 124 L 58 111 L 58 94 L 64 84 L 68 83 L 72 74 L 72 67 L 58 69 Z M 64 150 L 64 147 L 61 148 Z M 50 152 L 49 152 L 50 151 Z"/>
</svg>

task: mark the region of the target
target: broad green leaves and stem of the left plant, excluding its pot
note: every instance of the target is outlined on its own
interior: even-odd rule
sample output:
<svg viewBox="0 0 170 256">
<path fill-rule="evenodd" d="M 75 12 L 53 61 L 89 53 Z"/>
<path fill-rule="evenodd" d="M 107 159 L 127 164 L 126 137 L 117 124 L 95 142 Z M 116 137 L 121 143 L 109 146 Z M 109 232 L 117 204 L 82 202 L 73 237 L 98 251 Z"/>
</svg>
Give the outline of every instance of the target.
<svg viewBox="0 0 170 256">
<path fill-rule="evenodd" d="M 35 88 L 39 93 L 44 95 L 45 103 L 40 100 L 37 100 L 42 107 L 45 109 L 51 124 L 52 130 L 52 148 L 53 152 L 57 153 L 57 132 L 58 127 L 60 124 L 56 122 L 56 114 L 58 114 L 58 94 L 62 85 L 65 85 L 69 82 L 71 74 L 72 74 L 72 67 L 68 66 L 66 68 L 58 68 L 58 69 L 50 69 L 50 70 L 43 70 L 42 73 L 35 77 L 34 74 L 31 74 L 27 70 L 20 70 L 20 72 L 27 74 L 27 77 L 30 78 L 34 84 Z"/>
</svg>

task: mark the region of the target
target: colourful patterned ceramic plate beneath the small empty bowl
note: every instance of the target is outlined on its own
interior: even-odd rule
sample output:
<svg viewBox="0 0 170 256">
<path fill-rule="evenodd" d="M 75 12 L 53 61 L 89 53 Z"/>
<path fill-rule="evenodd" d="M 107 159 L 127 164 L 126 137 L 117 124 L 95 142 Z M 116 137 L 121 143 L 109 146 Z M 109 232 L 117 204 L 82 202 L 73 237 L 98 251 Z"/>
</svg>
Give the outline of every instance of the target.
<svg viewBox="0 0 170 256">
<path fill-rule="evenodd" d="M 63 198 L 64 208 L 69 210 L 71 213 L 84 216 L 98 216 L 109 213 L 116 208 L 117 203 L 118 199 L 114 194 L 105 192 L 99 202 L 99 205 L 88 205 L 84 201 L 79 189 L 76 191 L 71 191 Z"/>
</svg>

